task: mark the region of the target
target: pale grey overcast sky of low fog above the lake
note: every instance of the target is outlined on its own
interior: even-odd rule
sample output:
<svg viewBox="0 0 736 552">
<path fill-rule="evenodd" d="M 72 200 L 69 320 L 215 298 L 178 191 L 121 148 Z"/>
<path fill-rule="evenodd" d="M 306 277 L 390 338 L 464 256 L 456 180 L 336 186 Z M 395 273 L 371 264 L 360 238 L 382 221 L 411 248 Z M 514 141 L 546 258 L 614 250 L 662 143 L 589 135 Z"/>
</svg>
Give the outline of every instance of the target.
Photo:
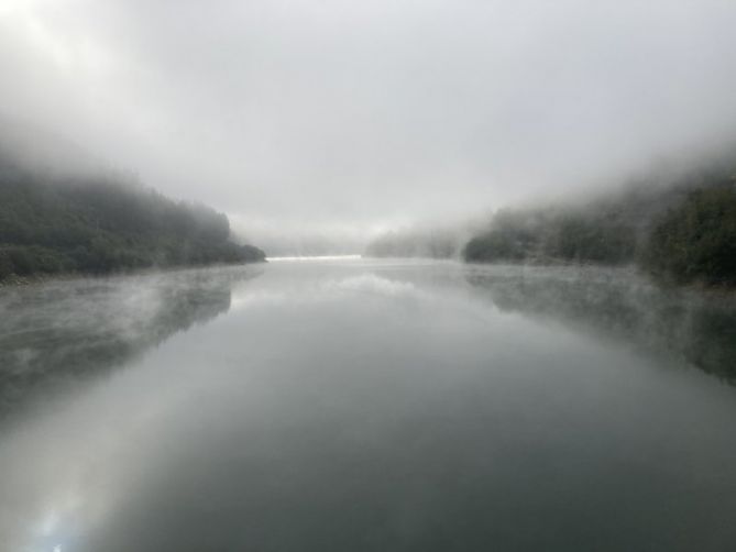
<svg viewBox="0 0 736 552">
<path fill-rule="evenodd" d="M 239 229 L 356 235 L 736 134 L 734 0 L 0 0 L 0 109 Z"/>
</svg>

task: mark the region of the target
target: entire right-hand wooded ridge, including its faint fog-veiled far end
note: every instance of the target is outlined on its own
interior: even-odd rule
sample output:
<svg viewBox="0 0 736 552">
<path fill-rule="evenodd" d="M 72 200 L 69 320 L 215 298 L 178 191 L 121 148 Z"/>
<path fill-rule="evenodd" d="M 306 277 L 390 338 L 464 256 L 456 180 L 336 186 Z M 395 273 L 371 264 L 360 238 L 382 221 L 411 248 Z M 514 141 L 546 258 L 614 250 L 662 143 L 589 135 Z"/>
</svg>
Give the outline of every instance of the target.
<svg viewBox="0 0 736 552">
<path fill-rule="evenodd" d="M 483 223 L 385 233 L 369 256 L 637 265 L 675 284 L 736 284 L 736 163 L 718 154 L 612 191 L 496 210 Z"/>
</svg>

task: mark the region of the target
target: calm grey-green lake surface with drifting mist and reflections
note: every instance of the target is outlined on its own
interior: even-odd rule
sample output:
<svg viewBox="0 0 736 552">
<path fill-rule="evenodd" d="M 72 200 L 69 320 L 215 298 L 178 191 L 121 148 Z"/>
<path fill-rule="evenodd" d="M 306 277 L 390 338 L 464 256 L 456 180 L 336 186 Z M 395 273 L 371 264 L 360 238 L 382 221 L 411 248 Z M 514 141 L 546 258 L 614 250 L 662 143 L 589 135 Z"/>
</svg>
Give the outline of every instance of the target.
<svg viewBox="0 0 736 552">
<path fill-rule="evenodd" d="M 736 308 L 322 261 L 0 290 L 0 550 L 733 551 Z"/>
</svg>

